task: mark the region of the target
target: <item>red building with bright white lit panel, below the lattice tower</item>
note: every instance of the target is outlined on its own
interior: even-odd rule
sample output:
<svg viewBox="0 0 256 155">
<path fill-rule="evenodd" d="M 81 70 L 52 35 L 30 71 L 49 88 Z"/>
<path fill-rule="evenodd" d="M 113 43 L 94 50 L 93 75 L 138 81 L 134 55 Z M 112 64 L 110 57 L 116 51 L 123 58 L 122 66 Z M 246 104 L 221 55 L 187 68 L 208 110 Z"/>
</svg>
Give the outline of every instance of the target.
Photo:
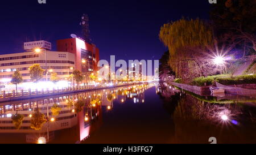
<svg viewBox="0 0 256 155">
<path fill-rule="evenodd" d="M 67 51 L 75 54 L 75 69 L 83 74 L 97 72 L 100 59 L 99 49 L 80 38 L 57 40 L 57 51 Z"/>
</svg>

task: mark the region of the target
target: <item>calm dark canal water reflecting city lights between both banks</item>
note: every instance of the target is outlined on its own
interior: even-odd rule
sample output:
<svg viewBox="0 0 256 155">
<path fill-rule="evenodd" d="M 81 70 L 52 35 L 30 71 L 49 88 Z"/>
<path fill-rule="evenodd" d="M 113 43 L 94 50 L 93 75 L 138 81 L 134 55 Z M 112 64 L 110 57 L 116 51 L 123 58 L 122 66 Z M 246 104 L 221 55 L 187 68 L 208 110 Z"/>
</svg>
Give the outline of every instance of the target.
<svg viewBox="0 0 256 155">
<path fill-rule="evenodd" d="M 0 103 L 0 143 L 256 143 L 255 123 L 255 98 L 165 83 Z"/>
</svg>

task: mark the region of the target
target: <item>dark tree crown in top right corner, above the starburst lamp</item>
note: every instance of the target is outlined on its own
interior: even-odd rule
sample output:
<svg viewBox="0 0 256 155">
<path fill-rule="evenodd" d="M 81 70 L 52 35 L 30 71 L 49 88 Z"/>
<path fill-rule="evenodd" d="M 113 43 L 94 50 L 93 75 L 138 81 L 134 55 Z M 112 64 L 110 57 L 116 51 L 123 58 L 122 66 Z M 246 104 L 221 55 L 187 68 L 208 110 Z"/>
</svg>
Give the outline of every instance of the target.
<svg viewBox="0 0 256 155">
<path fill-rule="evenodd" d="M 256 51 L 256 2 L 255 0 L 225 0 L 212 5 L 210 19 L 214 35 L 224 37 L 225 44 L 236 42 L 236 48 Z"/>
</svg>

